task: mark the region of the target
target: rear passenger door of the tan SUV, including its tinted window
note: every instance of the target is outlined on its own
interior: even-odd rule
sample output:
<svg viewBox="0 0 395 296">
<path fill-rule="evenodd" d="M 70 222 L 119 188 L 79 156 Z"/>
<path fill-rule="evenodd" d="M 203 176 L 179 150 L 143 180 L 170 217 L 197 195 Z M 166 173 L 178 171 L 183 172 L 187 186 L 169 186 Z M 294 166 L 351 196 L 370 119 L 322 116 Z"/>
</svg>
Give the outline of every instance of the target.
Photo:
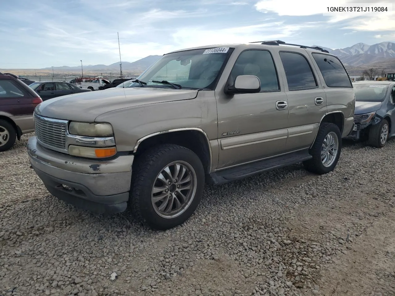
<svg viewBox="0 0 395 296">
<path fill-rule="evenodd" d="M 325 90 L 304 49 L 280 50 L 278 53 L 288 99 L 286 150 L 308 148 L 314 141 L 321 118 L 327 112 Z"/>
</svg>

